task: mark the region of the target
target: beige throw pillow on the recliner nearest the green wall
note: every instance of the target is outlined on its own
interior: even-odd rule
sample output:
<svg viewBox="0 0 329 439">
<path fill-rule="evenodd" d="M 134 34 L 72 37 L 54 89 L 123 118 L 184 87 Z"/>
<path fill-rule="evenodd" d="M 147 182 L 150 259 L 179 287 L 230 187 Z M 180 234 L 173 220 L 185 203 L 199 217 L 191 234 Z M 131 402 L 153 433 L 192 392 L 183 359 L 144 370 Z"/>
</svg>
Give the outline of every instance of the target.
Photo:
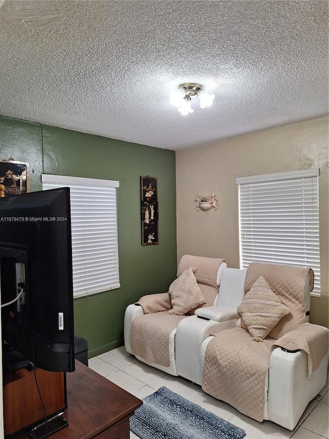
<svg viewBox="0 0 329 439">
<path fill-rule="evenodd" d="M 195 267 L 188 267 L 170 285 L 169 295 L 171 297 L 172 309 L 168 314 L 184 315 L 198 305 L 206 303 L 194 276 Z"/>
</svg>

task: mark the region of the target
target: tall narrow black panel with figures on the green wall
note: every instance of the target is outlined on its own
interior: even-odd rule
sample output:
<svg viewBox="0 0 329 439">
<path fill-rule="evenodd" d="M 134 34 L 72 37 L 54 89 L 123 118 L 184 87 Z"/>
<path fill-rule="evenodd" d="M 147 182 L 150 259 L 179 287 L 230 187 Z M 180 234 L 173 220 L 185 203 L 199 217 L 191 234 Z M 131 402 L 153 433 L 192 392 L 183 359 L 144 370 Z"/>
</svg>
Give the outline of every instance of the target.
<svg viewBox="0 0 329 439">
<path fill-rule="evenodd" d="M 158 179 L 141 177 L 142 245 L 159 243 Z"/>
</svg>

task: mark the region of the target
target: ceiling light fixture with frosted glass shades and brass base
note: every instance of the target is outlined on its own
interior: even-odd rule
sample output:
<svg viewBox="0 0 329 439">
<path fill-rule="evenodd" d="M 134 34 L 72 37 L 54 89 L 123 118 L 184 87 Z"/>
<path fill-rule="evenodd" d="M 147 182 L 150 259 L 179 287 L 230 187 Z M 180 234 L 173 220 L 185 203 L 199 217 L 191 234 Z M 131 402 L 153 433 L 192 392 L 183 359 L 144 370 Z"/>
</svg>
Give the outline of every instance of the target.
<svg viewBox="0 0 329 439">
<path fill-rule="evenodd" d="M 210 107 L 215 97 L 215 95 L 210 95 L 203 90 L 200 84 L 186 82 L 178 85 L 178 90 L 170 93 L 169 100 L 182 115 L 186 116 L 194 111 L 191 108 L 191 101 L 195 96 L 199 98 L 201 108 Z"/>
</svg>

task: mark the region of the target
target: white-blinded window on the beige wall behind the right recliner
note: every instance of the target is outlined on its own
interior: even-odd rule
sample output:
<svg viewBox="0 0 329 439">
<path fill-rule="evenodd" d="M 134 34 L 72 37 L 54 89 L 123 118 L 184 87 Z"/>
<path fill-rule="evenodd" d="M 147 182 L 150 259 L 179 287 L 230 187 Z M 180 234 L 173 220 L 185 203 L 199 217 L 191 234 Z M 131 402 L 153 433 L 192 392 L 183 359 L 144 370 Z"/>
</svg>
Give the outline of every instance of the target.
<svg viewBox="0 0 329 439">
<path fill-rule="evenodd" d="M 311 267 L 320 293 L 318 169 L 237 178 L 240 267 Z"/>
</svg>

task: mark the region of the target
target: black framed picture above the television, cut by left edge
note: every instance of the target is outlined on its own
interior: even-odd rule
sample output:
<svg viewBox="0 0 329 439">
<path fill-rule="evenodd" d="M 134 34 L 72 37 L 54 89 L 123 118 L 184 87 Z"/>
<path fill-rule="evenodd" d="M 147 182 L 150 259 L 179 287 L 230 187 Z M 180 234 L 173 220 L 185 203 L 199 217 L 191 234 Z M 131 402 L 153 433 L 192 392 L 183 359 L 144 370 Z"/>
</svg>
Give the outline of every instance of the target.
<svg viewBox="0 0 329 439">
<path fill-rule="evenodd" d="M 30 191 L 29 164 L 0 159 L 0 184 L 5 186 L 5 196 L 26 194 Z"/>
</svg>

